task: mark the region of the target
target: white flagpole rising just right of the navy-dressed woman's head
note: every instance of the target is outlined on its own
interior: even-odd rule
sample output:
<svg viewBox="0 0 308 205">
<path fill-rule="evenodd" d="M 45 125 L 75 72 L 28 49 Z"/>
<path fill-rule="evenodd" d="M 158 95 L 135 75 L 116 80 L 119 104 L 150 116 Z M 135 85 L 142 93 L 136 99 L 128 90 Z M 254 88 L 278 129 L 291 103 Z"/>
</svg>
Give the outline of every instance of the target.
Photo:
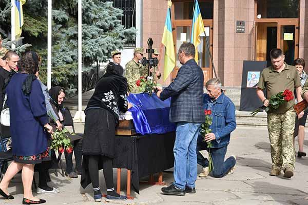
<svg viewBox="0 0 308 205">
<path fill-rule="evenodd" d="M 48 0 L 48 32 L 47 32 L 47 88 L 51 88 L 51 49 L 52 49 L 52 0 Z"/>
</svg>

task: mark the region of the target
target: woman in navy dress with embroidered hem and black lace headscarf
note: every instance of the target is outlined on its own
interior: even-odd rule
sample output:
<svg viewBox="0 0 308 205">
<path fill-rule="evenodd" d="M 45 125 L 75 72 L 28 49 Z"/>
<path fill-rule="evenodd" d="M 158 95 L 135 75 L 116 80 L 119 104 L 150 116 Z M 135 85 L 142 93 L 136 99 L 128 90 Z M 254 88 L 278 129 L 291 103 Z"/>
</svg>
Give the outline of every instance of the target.
<svg viewBox="0 0 308 205">
<path fill-rule="evenodd" d="M 41 85 L 34 75 L 38 70 L 37 54 L 26 52 L 18 68 L 21 72 L 12 76 L 7 87 L 13 162 L 0 182 L 0 194 L 8 199 L 14 198 L 7 188 L 15 174 L 22 170 L 23 204 L 44 203 L 46 201 L 34 197 L 31 190 L 34 165 L 51 158 L 46 130 L 52 133 L 52 127 L 48 124 Z"/>
</svg>

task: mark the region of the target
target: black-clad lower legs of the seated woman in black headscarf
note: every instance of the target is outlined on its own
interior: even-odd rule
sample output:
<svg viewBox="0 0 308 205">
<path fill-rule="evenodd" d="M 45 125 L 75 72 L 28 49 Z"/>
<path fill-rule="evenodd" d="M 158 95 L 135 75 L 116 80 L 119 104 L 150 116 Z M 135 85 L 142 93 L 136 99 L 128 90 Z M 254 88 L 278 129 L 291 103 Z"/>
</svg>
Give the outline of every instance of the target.
<svg viewBox="0 0 308 205">
<path fill-rule="evenodd" d="M 82 160 L 82 139 L 78 139 L 75 141 L 72 141 L 73 144 L 73 150 L 75 155 L 75 161 L 76 161 L 76 170 L 81 172 L 81 160 Z M 73 171 L 73 152 L 70 154 L 66 151 L 64 152 L 65 161 L 66 161 L 66 173 L 71 173 Z"/>
</svg>

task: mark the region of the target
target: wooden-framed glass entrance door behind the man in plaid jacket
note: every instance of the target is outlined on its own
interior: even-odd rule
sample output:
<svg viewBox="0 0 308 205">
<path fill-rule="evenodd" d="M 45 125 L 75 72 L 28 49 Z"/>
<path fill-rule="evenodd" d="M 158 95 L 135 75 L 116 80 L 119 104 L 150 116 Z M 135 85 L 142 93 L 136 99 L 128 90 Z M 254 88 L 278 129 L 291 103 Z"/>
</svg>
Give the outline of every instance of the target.
<svg viewBox="0 0 308 205">
<path fill-rule="evenodd" d="M 174 20 L 172 23 L 173 30 L 173 38 L 175 44 L 175 53 L 176 53 L 176 67 L 172 72 L 172 80 L 177 76 L 178 70 L 181 67 L 179 58 L 178 58 L 178 50 L 182 43 L 190 42 L 190 34 L 191 34 L 191 23 L 192 20 Z M 205 34 L 203 34 L 201 38 L 201 43 L 198 46 L 198 65 L 202 68 L 202 72 L 204 75 L 204 84 L 210 78 L 213 77 L 212 64 L 210 60 L 209 51 L 206 45 L 206 40 L 209 43 L 210 53 L 213 54 L 213 20 L 206 19 L 203 20 L 203 24 L 205 27 Z"/>
</svg>

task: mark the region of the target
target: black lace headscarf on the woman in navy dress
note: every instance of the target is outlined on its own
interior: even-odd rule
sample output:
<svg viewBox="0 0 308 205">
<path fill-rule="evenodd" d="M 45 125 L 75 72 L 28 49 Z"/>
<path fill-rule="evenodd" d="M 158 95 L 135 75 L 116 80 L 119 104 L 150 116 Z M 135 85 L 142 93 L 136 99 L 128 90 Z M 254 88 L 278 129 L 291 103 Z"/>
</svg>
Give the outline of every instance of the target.
<svg viewBox="0 0 308 205">
<path fill-rule="evenodd" d="M 29 71 L 29 75 L 26 77 L 23 86 L 22 86 L 22 90 L 24 92 L 25 95 L 29 95 L 31 90 L 32 90 L 32 81 L 36 79 L 36 76 L 34 75 L 37 71 L 38 71 L 38 55 L 34 52 L 34 51 L 27 51 L 22 59 L 21 59 L 21 67 L 23 70 L 23 60 L 25 60 L 27 58 L 28 55 L 31 55 L 32 60 L 33 60 L 33 64 L 34 67 L 31 69 L 31 71 Z"/>
</svg>

